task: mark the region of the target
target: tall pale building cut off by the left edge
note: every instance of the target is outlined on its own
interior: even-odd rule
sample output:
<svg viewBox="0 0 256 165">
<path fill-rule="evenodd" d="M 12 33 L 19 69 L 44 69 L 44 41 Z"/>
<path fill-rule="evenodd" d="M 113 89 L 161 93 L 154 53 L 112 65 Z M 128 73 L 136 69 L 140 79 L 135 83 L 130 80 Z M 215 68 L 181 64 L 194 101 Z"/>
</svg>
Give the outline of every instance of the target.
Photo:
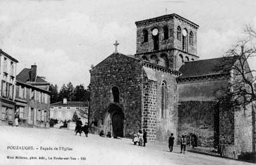
<svg viewBox="0 0 256 165">
<path fill-rule="evenodd" d="M 17 60 L 0 49 L 1 125 L 12 124 L 15 118 L 15 81 Z"/>
</svg>

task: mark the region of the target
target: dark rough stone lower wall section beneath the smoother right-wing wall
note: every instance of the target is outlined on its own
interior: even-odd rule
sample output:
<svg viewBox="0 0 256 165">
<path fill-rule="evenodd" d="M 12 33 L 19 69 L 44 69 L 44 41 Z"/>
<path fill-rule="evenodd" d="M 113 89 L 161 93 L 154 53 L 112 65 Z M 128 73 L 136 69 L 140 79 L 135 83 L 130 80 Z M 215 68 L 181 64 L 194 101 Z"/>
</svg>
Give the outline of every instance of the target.
<svg viewBox="0 0 256 165">
<path fill-rule="evenodd" d="M 178 139 L 196 134 L 197 145 L 214 147 L 219 122 L 215 101 L 181 101 L 178 104 Z"/>
</svg>

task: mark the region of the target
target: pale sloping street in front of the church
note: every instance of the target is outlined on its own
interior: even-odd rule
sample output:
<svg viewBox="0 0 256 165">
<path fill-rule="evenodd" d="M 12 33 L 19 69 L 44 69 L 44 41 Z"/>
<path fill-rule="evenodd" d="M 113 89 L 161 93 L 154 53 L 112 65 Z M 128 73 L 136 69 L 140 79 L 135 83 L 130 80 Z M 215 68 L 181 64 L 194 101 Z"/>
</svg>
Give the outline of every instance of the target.
<svg viewBox="0 0 256 165">
<path fill-rule="evenodd" d="M 96 134 L 80 137 L 71 130 L 1 126 L 0 134 L 0 164 L 249 164 L 196 153 L 183 155 L 178 147 L 170 153 L 163 144 L 144 148 L 134 146 L 130 139 L 108 139 Z"/>
</svg>

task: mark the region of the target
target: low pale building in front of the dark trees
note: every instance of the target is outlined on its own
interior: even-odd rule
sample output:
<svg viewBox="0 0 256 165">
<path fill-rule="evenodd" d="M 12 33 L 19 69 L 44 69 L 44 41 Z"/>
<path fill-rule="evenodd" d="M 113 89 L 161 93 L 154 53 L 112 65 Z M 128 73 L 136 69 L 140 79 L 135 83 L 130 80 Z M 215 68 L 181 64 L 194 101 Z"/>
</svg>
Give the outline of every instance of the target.
<svg viewBox="0 0 256 165">
<path fill-rule="evenodd" d="M 72 121 L 74 114 L 76 113 L 81 119 L 82 123 L 88 123 L 88 101 L 67 101 L 67 98 L 63 98 L 63 101 L 51 104 L 51 119 L 57 119 L 59 122 Z"/>
</svg>

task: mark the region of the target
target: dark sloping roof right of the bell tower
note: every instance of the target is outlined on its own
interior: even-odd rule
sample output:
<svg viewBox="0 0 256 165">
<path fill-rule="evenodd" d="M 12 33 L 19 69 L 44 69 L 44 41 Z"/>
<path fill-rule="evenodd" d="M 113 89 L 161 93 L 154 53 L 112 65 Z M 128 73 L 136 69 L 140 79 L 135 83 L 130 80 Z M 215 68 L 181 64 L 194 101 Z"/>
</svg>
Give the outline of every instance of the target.
<svg viewBox="0 0 256 165">
<path fill-rule="evenodd" d="M 191 78 L 228 73 L 235 61 L 236 58 L 232 56 L 185 62 L 185 64 L 180 67 L 180 72 L 182 75 L 179 78 Z"/>
</svg>

